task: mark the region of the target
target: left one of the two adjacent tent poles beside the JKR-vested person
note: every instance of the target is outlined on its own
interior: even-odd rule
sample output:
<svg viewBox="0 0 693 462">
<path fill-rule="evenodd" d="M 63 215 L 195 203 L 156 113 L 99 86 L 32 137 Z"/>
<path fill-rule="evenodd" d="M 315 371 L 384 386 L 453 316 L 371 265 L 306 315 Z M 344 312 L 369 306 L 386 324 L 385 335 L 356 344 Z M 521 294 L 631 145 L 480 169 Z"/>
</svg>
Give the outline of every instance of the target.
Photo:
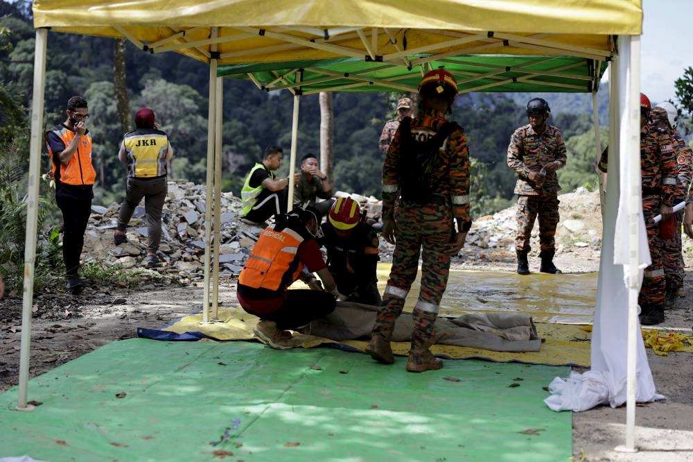
<svg viewBox="0 0 693 462">
<path fill-rule="evenodd" d="M 213 27 L 211 35 L 216 37 L 218 28 Z M 209 266 L 212 232 L 212 203 L 214 182 L 214 130 L 216 123 L 216 68 L 217 60 L 209 60 L 209 108 L 207 111 L 207 203 L 204 205 L 204 292 L 202 298 L 202 323 L 209 323 Z"/>
</svg>

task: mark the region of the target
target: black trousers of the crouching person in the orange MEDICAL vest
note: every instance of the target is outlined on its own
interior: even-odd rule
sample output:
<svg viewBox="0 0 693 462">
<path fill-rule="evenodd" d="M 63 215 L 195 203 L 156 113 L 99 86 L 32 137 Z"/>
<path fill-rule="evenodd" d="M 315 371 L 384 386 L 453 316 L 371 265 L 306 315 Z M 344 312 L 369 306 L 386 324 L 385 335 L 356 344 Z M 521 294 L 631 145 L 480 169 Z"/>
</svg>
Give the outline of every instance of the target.
<svg viewBox="0 0 693 462">
<path fill-rule="evenodd" d="M 243 308 L 258 318 L 273 320 L 280 330 L 296 330 L 310 321 L 327 316 L 334 311 L 337 302 L 329 292 L 294 289 L 288 291 L 284 304 L 272 313 L 256 313 Z"/>
</svg>

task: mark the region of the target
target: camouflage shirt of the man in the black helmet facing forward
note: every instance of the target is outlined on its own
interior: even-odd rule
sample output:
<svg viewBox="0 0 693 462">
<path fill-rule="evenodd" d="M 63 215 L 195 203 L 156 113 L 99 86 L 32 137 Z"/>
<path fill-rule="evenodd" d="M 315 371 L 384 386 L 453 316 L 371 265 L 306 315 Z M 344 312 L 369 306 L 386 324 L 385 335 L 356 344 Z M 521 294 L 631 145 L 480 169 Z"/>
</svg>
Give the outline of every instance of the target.
<svg viewBox="0 0 693 462">
<path fill-rule="evenodd" d="M 508 146 L 508 166 L 518 174 L 515 194 L 520 196 L 555 195 L 561 186 L 555 171 L 547 171 L 541 186 L 529 181 L 530 171 L 541 171 L 550 162 L 565 166 L 565 143 L 561 131 L 546 125 L 544 132 L 537 135 L 529 123 L 515 130 Z M 557 169 L 556 169 L 557 170 Z"/>
</svg>

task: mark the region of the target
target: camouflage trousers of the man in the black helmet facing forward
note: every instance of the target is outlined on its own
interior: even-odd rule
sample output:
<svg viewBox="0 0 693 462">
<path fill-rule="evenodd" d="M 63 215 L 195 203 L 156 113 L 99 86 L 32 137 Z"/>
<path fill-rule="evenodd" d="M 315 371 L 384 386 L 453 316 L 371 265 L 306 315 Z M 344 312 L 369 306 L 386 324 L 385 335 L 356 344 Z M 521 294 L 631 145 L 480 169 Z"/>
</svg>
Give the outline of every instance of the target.
<svg viewBox="0 0 693 462">
<path fill-rule="evenodd" d="M 529 238 L 532 237 L 534 220 L 539 218 L 539 245 L 541 250 L 556 250 L 556 226 L 559 224 L 559 203 L 557 196 L 518 196 L 516 219 L 518 234 L 515 250 L 529 252 Z"/>
</svg>

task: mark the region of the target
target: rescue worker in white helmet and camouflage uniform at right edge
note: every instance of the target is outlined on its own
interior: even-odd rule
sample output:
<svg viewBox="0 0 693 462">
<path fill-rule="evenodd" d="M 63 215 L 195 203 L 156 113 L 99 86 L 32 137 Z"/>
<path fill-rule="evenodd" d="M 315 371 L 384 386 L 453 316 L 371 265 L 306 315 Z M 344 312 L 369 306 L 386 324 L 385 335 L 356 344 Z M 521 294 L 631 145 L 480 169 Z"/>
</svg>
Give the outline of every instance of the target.
<svg viewBox="0 0 693 462">
<path fill-rule="evenodd" d="M 693 151 L 688 146 L 685 139 L 676 131 L 678 124 L 678 111 L 672 103 L 665 101 L 659 103 L 650 112 L 650 119 L 653 126 L 665 130 L 674 143 L 676 151 L 676 193 L 674 194 L 674 205 L 686 199 L 688 187 L 691 182 L 691 169 L 693 162 Z M 676 293 L 679 287 L 683 287 L 683 253 L 681 252 L 681 224 L 683 223 L 683 210 L 676 212 L 669 220 L 674 221 L 674 236 L 667 239 L 660 233 L 663 248 L 664 274 L 667 284 L 665 293 L 665 308 L 671 308 L 676 303 Z"/>
</svg>

